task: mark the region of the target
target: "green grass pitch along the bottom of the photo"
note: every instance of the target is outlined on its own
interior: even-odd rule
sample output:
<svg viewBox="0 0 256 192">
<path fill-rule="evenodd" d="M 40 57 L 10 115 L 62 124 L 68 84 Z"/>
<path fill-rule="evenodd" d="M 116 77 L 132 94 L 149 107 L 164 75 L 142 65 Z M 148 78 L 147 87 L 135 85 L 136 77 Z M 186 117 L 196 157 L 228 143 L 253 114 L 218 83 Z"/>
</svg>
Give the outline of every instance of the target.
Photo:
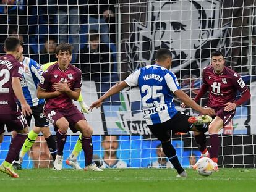
<svg viewBox="0 0 256 192">
<path fill-rule="evenodd" d="M 188 178 L 176 178 L 174 169 L 17 170 L 20 178 L 0 174 L 0 191 L 256 191 L 256 169 L 220 169 L 209 177 L 186 171 Z"/>
</svg>

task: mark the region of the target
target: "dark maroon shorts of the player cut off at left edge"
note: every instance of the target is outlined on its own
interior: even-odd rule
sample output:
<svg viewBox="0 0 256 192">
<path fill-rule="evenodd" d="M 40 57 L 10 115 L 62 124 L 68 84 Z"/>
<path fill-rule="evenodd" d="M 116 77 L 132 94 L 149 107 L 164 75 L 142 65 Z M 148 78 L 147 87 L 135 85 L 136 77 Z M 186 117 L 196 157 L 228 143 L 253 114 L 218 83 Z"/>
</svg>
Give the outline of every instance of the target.
<svg viewBox="0 0 256 192">
<path fill-rule="evenodd" d="M 0 114 L 0 133 L 4 133 L 4 125 L 8 132 L 19 131 L 27 127 L 27 120 L 21 111 Z"/>
</svg>

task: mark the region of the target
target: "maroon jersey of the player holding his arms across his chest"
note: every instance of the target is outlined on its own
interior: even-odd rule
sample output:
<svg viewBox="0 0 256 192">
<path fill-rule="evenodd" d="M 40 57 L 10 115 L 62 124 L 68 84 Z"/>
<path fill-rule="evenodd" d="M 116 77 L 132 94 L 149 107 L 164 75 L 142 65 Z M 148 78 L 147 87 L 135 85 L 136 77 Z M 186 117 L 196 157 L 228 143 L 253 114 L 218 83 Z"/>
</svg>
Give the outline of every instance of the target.
<svg viewBox="0 0 256 192">
<path fill-rule="evenodd" d="M 74 91 L 75 89 L 81 88 L 81 75 L 82 72 L 73 65 L 69 65 L 65 71 L 62 71 L 59 68 L 59 64 L 56 63 L 45 70 L 38 86 L 46 92 L 54 92 L 53 83 L 65 81 L 66 83 L 70 83 L 70 89 Z M 45 110 L 66 109 L 72 105 L 74 105 L 72 99 L 66 93 L 62 93 L 56 98 L 46 99 Z"/>
</svg>

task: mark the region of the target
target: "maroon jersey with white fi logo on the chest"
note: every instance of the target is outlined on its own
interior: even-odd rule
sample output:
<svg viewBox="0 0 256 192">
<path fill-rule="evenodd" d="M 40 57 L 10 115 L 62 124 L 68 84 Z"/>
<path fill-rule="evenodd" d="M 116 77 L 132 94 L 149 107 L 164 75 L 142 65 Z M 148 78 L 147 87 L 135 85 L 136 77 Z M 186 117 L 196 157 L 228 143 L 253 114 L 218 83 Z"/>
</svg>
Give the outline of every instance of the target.
<svg viewBox="0 0 256 192">
<path fill-rule="evenodd" d="M 212 66 L 205 67 L 203 83 L 208 86 L 208 107 L 224 107 L 225 103 L 235 101 L 237 90 L 241 93 L 247 90 L 240 75 L 225 66 L 220 75 L 215 74 Z"/>
</svg>

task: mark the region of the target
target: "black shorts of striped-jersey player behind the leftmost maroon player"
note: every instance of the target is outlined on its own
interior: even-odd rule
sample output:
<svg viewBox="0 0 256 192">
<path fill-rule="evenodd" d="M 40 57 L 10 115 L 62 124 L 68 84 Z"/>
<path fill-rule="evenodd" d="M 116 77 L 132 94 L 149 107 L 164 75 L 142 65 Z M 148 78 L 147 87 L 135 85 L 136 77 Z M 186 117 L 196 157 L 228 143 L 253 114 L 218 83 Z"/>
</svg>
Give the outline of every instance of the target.
<svg viewBox="0 0 256 192">
<path fill-rule="evenodd" d="M 36 127 L 47 127 L 49 126 L 49 121 L 46 118 L 45 114 L 43 113 L 43 106 L 45 106 L 45 102 L 39 104 L 38 106 L 31 107 L 32 115 L 26 116 L 28 126 L 30 126 L 30 122 L 32 116 L 35 119 L 35 126 Z"/>
</svg>

